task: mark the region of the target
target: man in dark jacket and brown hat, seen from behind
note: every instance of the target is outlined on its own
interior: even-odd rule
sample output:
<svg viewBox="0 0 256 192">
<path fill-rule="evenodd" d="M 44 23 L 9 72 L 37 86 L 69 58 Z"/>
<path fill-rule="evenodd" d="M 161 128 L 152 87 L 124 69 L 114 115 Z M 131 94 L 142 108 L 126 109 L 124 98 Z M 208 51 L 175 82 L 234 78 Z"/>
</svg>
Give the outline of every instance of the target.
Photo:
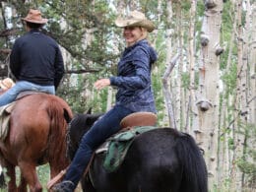
<svg viewBox="0 0 256 192">
<path fill-rule="evenodd" d="M 57 42 L 40 32 L 47 19 L 41 17 L 40 11 L 31 9 L 22 20 L 27 32 L 16 39 L 10 56 L 10 69 L 17 82 L 0 96 L 0 106 L 14 101 L 23 91 L 55 95 L 64 75 Z"/>
</svg>

